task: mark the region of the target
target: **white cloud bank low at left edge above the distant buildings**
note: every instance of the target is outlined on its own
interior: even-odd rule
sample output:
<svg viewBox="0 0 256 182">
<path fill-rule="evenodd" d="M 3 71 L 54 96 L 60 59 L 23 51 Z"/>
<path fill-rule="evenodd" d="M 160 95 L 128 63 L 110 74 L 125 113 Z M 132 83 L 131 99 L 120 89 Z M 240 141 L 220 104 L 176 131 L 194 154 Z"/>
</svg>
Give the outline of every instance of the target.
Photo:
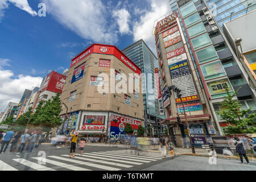
<svg viewBox="0 0 256 182">
<path fill-rule="evenodd" d="M 0 67 L 0 111 L 5 110 L 9 102 L 19 102 L 25 89 L 38 86 L 42 80 L 42 77 L 29 75 L 15 76 L 12 71 Z"/>
</svg>

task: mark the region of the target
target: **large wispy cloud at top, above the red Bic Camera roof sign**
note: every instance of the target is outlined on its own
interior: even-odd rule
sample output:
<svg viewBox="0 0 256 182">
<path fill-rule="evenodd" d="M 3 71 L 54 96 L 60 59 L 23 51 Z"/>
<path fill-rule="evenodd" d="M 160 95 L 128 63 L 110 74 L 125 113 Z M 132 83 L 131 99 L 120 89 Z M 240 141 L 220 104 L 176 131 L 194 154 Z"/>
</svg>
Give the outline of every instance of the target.
<svg viewBox="0 0 256 182">
<path fill-rule="evenodd" d="M 117 42 L 117 33 L 109 23 L 109 11 L 100 0 L 43 0 L 47 13 L 84 39 Z"/>
</svg>

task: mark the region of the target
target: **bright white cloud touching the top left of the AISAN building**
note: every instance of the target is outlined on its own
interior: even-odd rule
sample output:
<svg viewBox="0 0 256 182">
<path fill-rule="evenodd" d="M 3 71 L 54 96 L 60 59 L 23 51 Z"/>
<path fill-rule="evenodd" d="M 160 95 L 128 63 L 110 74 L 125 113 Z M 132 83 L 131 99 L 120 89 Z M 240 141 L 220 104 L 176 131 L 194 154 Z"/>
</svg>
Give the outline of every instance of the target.
<svg viewBox="0 0 256 182">
<path fill-rule="evenodd" d="M 154 35 L 152 35 L 154 22 L 156 19 L 171 11 L 171 9 L 168 0 L 149 0 L 149 2 L 151 3 L 151 10 L 148 10 L 141 16 L 138 22 L 134 23 L 133 39 L 134 42 L 143 39 L 148 47 L 150 47 L 151 51 L 156 55 L 155 38 Z"/>
</svg>

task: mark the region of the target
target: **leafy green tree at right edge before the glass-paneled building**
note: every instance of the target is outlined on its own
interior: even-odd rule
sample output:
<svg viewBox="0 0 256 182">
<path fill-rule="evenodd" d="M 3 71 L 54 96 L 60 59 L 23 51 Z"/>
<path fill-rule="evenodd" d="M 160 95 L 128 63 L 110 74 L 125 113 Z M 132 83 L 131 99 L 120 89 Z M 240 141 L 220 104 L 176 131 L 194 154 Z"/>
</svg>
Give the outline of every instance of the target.
<svg viewBox="0 0 256 182">
<path fill-rule="evenodd" d="M 239 90 L 239 89 L 238 89 Z M 225 134 L 242 134 L 242 133 L 255 133 L 255 113 L 250 113 L 251 109 L 241 109 L 239 101 L 234 101 L 233 97 L 237 96 L 237 92 L 229 92 L 226 88 L 227 96 L 224 97 L 222 102 L 222 110 L 216 111 L 221 119 L 228 123 L 228 127 L 224 128 Z M 247 117 L 245 117 L 248 114 Z"/>
</svg>

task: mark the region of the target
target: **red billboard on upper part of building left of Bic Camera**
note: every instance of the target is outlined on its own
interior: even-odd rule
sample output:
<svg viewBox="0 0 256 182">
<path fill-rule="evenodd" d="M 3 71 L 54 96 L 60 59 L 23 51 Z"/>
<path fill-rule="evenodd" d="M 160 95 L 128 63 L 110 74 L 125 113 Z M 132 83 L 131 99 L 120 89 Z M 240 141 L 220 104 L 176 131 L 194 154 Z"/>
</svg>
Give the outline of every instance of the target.
<svg viewBox="0 0 256 182">
<path fill-rule="evenodd" d="M 46 80 L 44 80 L 41 93 L 45 90 L 48 90 L 55 93 L 59 92 L 61 94 L 65 80 L 66 76 L 61 75 L 60 73 L 55 71 L 49 73 L 49 75 L 46 77 Z"/>
</svg>

